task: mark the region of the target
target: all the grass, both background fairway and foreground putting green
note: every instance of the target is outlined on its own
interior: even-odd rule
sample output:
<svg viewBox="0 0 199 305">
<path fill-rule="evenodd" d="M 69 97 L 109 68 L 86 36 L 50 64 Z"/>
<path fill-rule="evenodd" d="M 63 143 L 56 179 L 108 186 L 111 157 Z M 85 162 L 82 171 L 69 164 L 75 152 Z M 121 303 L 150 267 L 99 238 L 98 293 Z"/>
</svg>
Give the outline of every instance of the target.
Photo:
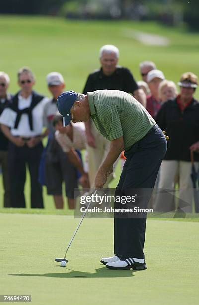
<svg viewBox="0 0 199 305">
<path fill-rule="evenodd" d="M 12 94 L 19 90 L 17 71 L 22 66 L 32 69 L 34 89 L 41 94 L 50 97 L 46 75 L 52 71 L 63 75 L 66 90 L 82 92 L 88 74 L 100 66 L 98 53 L 104 44 L 119 48 L 119 64 L 136 81 L 141 78 L 139 63 L 145 60 L 154 61 L 175 83 L 187 71 L 199 76 L 199 33 L 185 26 L 1 15 L 0 40 L 0 71 L 10 76 Z M 199 99 L 199 89 L 194 96 Z M 119 180 L 120 162 L 115 173 L 111 188 Z M 145 271 L 102 265 L 102 257 L 113 255 L 113 219 L 84 219 L 66 256 L 68 263 L 61 267 L 54 260 L 64 257 L 80 219 L 68 209 L 65 192 L 64 209 L 56 210 L 45 187 L 45 208 L 30 209 L 28 172 L 24 193 L 26 209 L 3 208 L 0 175 L 0 294 L 31 294 L 34 305 L 199 304 L 198 215 L 148 219 Z"/>
</svg>

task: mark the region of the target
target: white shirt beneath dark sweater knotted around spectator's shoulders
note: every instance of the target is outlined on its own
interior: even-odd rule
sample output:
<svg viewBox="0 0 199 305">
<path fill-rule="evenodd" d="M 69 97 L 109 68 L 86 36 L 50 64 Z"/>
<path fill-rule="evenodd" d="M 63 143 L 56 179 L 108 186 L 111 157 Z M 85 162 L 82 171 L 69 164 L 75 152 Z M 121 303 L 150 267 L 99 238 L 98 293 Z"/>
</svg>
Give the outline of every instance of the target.
<svg viewBox="0 0 199 305">
<path fill-rule="evenodd" d="M 32 95 L 27 98 L 18 96 L 19 110 L 30 107 Z M 43 130 L 43 112 L 44 106 L 48 98 L 44 97 L 32 110 L 33 130 L 30 129 L 28 115 L 23 113 L 21 115 L 19 125 L 15 129 L 14 124 L 16 121 L 17 113 L 10 108 L 5 108 L 0 116 L 0 124 L 10 127 L 13 136 L 34 137 L 42 134 Z"/>
</svg>

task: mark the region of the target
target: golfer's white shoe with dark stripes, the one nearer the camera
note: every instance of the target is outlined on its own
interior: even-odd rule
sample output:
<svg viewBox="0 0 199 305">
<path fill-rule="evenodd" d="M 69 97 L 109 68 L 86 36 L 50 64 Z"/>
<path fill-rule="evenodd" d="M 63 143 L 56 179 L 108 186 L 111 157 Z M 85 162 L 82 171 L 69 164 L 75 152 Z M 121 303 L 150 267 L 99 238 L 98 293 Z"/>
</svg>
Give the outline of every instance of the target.
<svg viewBox="0 0 199 305">
<path fill-rule="evenodd" d="M 122 269 L 122 270 L 145 270 L 147 268 L 146 263 L 139 263 L 134 261 L 133 258 L 123 258 L 115 262 L 108 262 L 106 267 L 109 269 Z"/>
</svg>

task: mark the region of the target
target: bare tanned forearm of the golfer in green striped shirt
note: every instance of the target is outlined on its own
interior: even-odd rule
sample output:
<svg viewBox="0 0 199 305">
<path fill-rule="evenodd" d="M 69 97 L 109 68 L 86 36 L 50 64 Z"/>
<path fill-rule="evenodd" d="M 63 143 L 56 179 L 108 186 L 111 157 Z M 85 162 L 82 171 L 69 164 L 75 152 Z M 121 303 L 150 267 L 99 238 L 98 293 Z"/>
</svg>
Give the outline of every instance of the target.
<svg viewBox="0 0 199 305">
<path fill-rule="evenodd" d="M 107 172 L 110 167 L 115 163 L 121 152 L 124 150 L 123 137 L 111 141 L 110 149 L 106 159 L 100 166 L 99 170 Z"/>
</svg>

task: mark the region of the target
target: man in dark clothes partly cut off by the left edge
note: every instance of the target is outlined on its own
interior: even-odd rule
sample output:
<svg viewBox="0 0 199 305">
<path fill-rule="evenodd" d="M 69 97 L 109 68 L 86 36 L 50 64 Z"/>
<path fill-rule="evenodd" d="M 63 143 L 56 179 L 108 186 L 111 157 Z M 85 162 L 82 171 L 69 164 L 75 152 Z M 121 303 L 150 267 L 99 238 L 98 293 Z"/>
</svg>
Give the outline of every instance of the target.
<svg viewBox="0 0 199 305">
<path fill-rule="evenodd" d="M 10 83 L 10 78 L 5 72 L 0 72 L 0 115 L 7 107 L 11 100 L 11 94 L 7 92 Z M 0 164 L 2 166 L 3 176 L 3 188 L 4 188 L 4 207 L 10 207 L 10 186 L 8 178 L 8 164 L 7 164 L 7 152 L 8 152 L 8 139 L 2 133 L 0 129 Z"/>
</svg>

